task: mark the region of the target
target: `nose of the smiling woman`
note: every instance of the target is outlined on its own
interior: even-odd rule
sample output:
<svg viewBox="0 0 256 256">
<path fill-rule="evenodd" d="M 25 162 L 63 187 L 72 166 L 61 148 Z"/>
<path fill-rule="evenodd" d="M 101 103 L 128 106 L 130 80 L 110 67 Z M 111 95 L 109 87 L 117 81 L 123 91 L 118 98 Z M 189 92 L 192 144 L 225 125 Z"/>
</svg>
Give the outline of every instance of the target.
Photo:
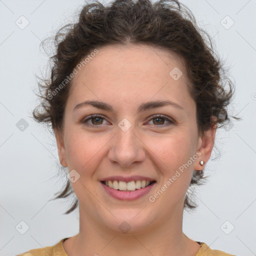
<svg viewBox="0 0 256 256">
<path fill-rule="evenodd" d="M 118 127 L 116 135 L 110 140 L 108 159 L 112 164 L 128 168 L 144 161 L 145 145 L 133 126 L 126 131 Z"/>
</svg>

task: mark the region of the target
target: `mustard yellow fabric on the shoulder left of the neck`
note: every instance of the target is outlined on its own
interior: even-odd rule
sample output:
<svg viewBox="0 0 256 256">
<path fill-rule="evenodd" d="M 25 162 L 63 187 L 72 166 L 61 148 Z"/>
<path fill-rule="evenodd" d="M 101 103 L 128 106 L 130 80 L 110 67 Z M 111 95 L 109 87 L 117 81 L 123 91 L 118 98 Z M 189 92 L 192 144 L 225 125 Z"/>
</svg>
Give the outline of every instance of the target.
<svg viewBox="0 0 256 256">
<path fill-rule="evenodd" d="M 65 239 L 67 238 L 61 239 L 54 245 L 46 246 L 43 248 L 30 249 L 15 256 L 67 256 L 62 245 Z"/>
</svg>

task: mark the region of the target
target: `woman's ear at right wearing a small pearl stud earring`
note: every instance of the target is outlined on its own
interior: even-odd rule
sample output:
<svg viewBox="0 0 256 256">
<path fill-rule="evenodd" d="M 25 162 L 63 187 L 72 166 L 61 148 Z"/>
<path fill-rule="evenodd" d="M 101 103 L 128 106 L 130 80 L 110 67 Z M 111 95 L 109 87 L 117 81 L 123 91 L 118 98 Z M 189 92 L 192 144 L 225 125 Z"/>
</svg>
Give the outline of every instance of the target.
<svg viewBox="0 0 256 256">
<path fill-rule="evenodd" d="M 205 167 L 205 163 L 209 160 L 211 151 L 214 145 L 215 140 L 215 133 L 216 133 L 216 117 L 212 117 L 214 125 L 212 128 L 208 129 L 204 132 L 203 136 L 199 136 L 198 138 L 198 144 L 197 144 L 197 151 L 199 151 L 201 154 L 196 159 L 196 162 L 194 163 L 194 170 L 202 170 Z M 203 165 L 200 165 L 199 162 L 203 160 Z"/>
</svg>

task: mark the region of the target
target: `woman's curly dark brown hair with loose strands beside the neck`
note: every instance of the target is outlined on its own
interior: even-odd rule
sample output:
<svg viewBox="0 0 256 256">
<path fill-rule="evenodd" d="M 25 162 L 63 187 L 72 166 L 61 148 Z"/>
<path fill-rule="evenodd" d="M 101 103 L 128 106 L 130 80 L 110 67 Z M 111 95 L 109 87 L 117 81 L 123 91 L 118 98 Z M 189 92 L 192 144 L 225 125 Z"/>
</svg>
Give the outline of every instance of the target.
<svg viewBox="0 0 256 256">
<path fill-rule="evenodd" d="M 72 79 L 66 80 L 64 85 L 63 81 L 93 49 L 109 44 L 142 43 L 177 54 L 184 62 L 185 75 L 190 82 L 189 92 L 196 102 L 200 135 L 214 124 L 219 128 L 230 120 L 227 105 L 233 96 L 233 83 L 213 50 L 212 39 L 197 26 L 191 11 L 178 0 L 154 3 L 150 0 L 114 0 L 105 6 L 96 0 L 82 6 L 78 21 L 62 26 L 53 36 L 53 41 L 55 54 L 49 58 L 50 78 L 39 78 L 40 104 L 33 110 L 33 118 L 46 123 L 51 132 L 54 128 L 61 132 L 63 127 Z M 60 170 L 64 173 L 62 166 Z M 206 178 L 203 170 L 194 170 L 189 187 L 204 183 Z M 73 194 L 67 179 L 64 189 L 53 200 Z M 76 198 L 64 214 L 73 211 L 77 205 Z M 187 192 L 184 208 L 196 206 Z"/>
</svg>

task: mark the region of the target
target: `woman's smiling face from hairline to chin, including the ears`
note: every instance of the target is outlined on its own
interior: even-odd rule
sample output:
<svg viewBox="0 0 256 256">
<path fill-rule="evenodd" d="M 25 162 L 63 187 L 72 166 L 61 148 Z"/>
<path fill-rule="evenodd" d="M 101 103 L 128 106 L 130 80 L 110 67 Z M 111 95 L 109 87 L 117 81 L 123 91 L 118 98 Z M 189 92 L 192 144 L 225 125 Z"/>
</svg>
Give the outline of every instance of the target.
<svg viewBox="0 0 256 256">
<path fill-rule="evenodd" d="M 74 76 L 63 133 L 55 133 L 80 220 L 136 233 L 182 215 L 192 172 L 210 157 L 214 136 L 198 136 L 184 73 L 174 54 L 130 45 L 98 48 Z"/>
</svg>

